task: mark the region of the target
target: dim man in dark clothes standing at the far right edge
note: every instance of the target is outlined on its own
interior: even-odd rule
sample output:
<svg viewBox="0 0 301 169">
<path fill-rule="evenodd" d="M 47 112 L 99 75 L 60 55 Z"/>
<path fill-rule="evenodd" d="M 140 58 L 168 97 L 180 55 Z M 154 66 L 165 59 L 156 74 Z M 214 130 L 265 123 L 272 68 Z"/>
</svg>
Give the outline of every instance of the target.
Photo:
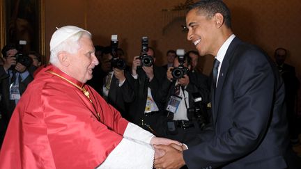
<svg viewBox="0 0 301 169">
<path fill-rule="evenodd" d="M 286 89 L 286 115 L 288 117 L 288 130 L 290 133 L 291 143 L 293 145 L 298 145 L 300 143 L 298 138 L 300 128 L 298 127 L 298 115 L 295 113 L 295 101 L 300 83 L 298 78 L 295 76 L 295 67 L 284 63 L 286 56 L 286 49 L 279 47 L 275 50 L 275 61 L 277 63 L 279 73 L 282 79 L 284 79 Z"/>
</svg>

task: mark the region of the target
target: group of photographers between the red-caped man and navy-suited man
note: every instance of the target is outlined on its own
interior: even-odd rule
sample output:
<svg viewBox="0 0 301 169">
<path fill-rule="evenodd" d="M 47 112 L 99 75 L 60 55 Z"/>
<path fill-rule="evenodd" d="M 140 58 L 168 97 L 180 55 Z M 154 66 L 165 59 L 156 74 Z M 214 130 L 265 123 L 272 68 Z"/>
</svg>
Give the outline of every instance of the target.
<svg viewBox="0 0 301 169">
<path fill-rule="evenodd" d="M 155 49 L 142 37 L 141 52 L 129 66 L 114 35 L 110 46 L 95 50 L 100 64 L 87 83 L 130 122 L 183 143 L 209 123 L 209 82 L 195 71 L 197 59 L 190 57 L 195 52 L 169 50 L 167 65 L 157 66 Z"/>
</svg>

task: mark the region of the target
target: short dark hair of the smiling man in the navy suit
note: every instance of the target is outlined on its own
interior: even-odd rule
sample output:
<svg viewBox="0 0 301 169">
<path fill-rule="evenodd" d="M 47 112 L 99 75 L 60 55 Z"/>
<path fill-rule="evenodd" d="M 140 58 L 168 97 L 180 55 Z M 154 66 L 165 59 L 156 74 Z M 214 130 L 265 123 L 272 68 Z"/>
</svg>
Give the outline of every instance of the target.
<svg viewBox="0 0 301 169">
<path fill-rule="evenodd" d="M 192 4 L 189 10 L 196 9 L 198 13 L 203 13 L 211 18 L 215 13 L 221 13 L 224 17 L 224 24 L 231 28 L 231 13 L 229 8 L 222 0 L 201 0 Z"/>
</svg>

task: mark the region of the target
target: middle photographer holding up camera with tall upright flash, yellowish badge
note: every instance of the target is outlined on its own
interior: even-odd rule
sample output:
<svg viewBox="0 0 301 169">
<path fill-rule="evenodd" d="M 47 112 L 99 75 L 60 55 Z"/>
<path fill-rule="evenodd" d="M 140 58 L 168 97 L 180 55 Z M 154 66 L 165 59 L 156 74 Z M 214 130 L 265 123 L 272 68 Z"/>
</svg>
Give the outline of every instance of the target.
<svg viewBox="0 0 301 169">
<path fill-rule="evenodd" d="M 154 62 L 154 49 L 147 45 L 144 46 L 142 43 L 141 56 L 134 56 L 132 62 L 131 79 L 135 99 L 130 104 L 129 112 L 135 124 L 157 136 L 162 136 L 160 119 L 162 118 L 163 106 L 160 104 L 161 98 L 158 97 L 158 90 L 165 79 L 165 71 L 163 67 L 153 65 Z"/>
</svg>

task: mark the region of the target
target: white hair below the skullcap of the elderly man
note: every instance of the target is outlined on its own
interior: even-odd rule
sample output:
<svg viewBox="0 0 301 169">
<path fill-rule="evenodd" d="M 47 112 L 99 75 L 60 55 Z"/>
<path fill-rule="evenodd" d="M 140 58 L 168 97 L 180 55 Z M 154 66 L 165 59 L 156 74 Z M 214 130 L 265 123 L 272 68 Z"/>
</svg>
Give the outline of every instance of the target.
<svg viewBox="0 0 301 169">
<path fill-rule="evenodd" d="M 58 54 L 60 51 L 67 51 L 70 54 L 75 54 L 80 47 L 79 40 L 84 35 L 88 38 L 91 38 L 91 34 L 87 33 L 86 31 L 79 31 L 78 33 L 70 36 L 70 38 L 64 40 L 60 45 L 52 49 L 50 51 L 49 63 L 56 65 L 59 62 Z"/>
</svg>

